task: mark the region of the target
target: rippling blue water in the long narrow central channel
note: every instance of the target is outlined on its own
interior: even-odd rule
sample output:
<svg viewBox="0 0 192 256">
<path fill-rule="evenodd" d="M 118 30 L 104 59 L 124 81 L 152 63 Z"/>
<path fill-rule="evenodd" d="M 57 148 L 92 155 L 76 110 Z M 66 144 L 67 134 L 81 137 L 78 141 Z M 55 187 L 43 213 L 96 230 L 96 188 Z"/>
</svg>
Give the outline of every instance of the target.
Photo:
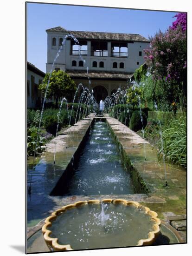
<svg viewBox="0 0 192 256">
<path fill-rule="evenodd" d="M 74 168 L 74 175 L 64 188 L 64 195 L 134 193 L 129 173 L 121 164 L 106 122 L 94 123 Z"/>
</svg>

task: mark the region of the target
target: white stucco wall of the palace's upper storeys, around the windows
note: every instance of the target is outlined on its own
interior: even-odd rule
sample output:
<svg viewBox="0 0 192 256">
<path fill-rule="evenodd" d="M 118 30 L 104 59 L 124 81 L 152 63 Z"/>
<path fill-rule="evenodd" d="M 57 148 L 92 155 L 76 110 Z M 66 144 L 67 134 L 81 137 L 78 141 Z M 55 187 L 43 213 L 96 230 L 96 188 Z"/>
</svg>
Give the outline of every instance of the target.
<svg viewBox="0 0 192 256">
<path fill-rule="evenodd" d="M 59 49 L 59 38 L 64 37 L 65 34 L 61 33 L 47 33 L 47 64 L 46 72 L 51 71 L 52 63 Z M 56 47 L 52 47 L 52 38 L 56 38 Z M 128 58 L 122 57 L 109 57 L 111 43 L 108 42 L 108 57 L 97 57 L 97 56 L 83 56 L 85 60 L 84 67 L 78 67 L 78 62 L 81 60 L 80 56 L 70 55 L 70 40 L 66 40 L 64 48 L 61 50 L 59 57 L 56 61 L 55 67 L 59 67 L 61 70 L 65 69 L 86 69 L 89 70 L 106 70 L 106 71 L 124 71 L 134 72 L 136 68 L 140 67 L 144 61 L 143 50 L 149 46 L 146 42 L 134 42 L 128 43 Z M 139 51 L 142 52 L 142 56 L 139 56 Z M 88 41 L 88 54 L 90 54 L 90 41 Z M 72 61 L 77 61 L 77 67 L 72 66 Z M 92 62 L 97 61 L 97 67 L 92 67 Z M 99 67 L 99 62 L 104 62 L 104 67 Z M 117 62 L 117 68 L 113 68 L 113 62 Z M 124 63 L 124 68 L 120 68 L 120 62 Z M 139 65 L 137 64 L 139 62 Z"/>
</svg>

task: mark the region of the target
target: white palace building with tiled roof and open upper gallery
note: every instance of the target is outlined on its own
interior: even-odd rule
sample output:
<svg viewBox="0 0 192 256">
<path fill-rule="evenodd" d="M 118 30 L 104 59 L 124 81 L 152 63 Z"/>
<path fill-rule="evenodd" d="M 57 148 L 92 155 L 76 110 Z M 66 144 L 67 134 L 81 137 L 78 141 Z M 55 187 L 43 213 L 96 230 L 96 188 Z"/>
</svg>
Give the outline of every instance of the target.
<svg viewBox="0 0 192 256">
<path fill-rule="evenodd" d="M 55 70 L 64 70 L 77 84 L 81 82 L 83 86 L 93 89 L 98 103 L 111 96 L 117 88 L 127 86 L 135 69 L 145 62 L 143 50 L 150 43 L 139 34 L 68 31 L 63 27 L 53 27 L 46 32 L 46 72 L 51 71 L 64 37 L 72 34 L 79 45 L 71 36 L 67 37 L 56 60 Z"/>
</svg>

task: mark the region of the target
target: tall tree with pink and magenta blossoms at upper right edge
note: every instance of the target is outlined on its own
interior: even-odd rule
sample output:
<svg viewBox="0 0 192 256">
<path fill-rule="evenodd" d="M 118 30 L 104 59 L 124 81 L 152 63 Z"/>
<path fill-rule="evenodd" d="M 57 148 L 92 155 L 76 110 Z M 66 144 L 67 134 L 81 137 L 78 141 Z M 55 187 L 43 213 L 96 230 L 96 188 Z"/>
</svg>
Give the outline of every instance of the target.
<svg viewBox="0 0 192 256">
<path fill-rule="evenodd" d="M 177 19 L 165 33 L 159 31 L 150 38 L 145 50 L 145 60 L 155 81 L 177 91 L 181 107 L 186 107 L 186 13 L 175 15 Z"/>
</svg>

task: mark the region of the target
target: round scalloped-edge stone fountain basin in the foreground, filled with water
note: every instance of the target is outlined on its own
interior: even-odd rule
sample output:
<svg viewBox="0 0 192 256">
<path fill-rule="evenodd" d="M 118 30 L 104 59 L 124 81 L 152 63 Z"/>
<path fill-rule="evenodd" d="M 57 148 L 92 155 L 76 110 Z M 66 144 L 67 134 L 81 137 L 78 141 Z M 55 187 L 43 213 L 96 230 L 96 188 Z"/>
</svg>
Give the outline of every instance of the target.
<svg viewBox="0 0 192 256">
<path fill-rule="evenodd" d="M 76 202 L 53 212 L 42 228 L 53 250 L 149 245 L 160 232 L 157 213 L 138 202 Z"/>
</svg>

